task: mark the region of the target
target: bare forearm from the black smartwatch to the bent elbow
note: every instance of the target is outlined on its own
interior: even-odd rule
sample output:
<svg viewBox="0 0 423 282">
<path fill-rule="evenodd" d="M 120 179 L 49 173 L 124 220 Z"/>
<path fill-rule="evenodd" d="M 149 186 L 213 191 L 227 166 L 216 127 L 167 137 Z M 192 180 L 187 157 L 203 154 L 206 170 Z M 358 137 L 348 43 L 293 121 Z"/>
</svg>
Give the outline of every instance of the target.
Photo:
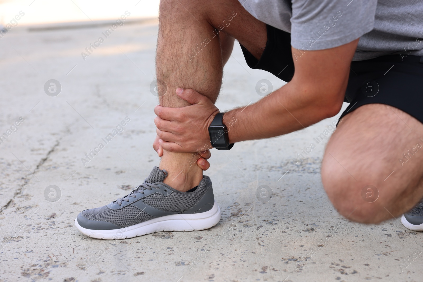
<svg viewBox="0 0 423 282">
<path fill-rule="evenodd" d="M 321 92 L 321 93 L 319 93 Z M 336 115 L 341 109 L 339 93 L 327 93 L 291 81 L 247 107 L 226 112 L 223 123 L 229 141 L 263 139 L 287 134 Z"/>
</svg>

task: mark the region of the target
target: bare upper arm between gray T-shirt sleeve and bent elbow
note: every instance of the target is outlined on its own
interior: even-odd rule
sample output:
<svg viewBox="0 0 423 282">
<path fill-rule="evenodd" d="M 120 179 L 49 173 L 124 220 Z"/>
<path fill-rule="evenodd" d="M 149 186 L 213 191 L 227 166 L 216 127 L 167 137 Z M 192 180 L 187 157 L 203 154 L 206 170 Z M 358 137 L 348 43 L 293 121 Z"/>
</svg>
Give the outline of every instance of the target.
<svg viewBox="0 0 423 282">
<path fill-rule="evenodd" d="M 338 109 L 339 112 L 358 40 L 357 38 L 338 47 L 315 51 L 292 47 L 295 73 L 290 83 L 300 88 L 300 93 L 303 93 L 308 103 L 311 100 L 334 112 Z"/>
</svg>

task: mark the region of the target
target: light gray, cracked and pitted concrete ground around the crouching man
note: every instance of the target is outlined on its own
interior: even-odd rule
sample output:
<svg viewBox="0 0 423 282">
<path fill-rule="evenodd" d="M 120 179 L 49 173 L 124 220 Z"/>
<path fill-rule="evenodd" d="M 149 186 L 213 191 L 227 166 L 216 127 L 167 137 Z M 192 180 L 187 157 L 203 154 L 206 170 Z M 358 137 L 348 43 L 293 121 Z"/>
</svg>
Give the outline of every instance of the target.
<svg viewBox="0 0 423 282">
<path fill-rule="evenodd" d="M 150 91 L 157 21 L 118 27 L 83 60 L 107 27 L 16 27 L 0 39 L 0 134 L 10 133 L 0 144 L 0 281 L 422 280 L 422 233 L 394 218 L 349 222 L 327 199 L 319 170 L 329 136 L 313 138 L 336 118 L 212 150 L 205 174 L 222 219 L 209 230 L 120 241 L 79 233 L 80 211 L 128 193 L 159 163 L 151 147 L 158 100 Z M 58 88 L 44 91 L 49 79 L 60 83 L 58 96 Z M 261 79 L 283 85 L 248 68 L 236 45 L 217 106 L 257 101 Z M 84 166 L 85 154 L 125 117 L 124 131 Z M 311 142 L 316 148 L 296 165 Z M 273 193 L 266 203 L 257 196 L 266 193 L 262 185 Z"/>
</svg>

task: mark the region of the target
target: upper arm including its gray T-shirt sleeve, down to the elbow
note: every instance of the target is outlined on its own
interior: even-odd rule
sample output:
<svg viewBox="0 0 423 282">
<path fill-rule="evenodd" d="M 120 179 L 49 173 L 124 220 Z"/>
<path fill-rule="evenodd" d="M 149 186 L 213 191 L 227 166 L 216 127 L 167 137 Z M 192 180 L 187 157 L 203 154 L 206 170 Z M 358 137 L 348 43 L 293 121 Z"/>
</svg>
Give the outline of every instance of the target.
<svg viewBox="0 0 423 282">
<path fill-rule="evenodd" d="M 336 112 L 336 108 L 340 109 L 342 105 L 357 38 L 373 30 L 378 1 L 291 2 L 293 80 L 299 82 L 299 87 L 306 87 L 299 90 L 313 91 L 312 94 L 320 100 L 332 103 L 332 111 Z M 320 100 L 313 102 L 321 103 Z"/>
</svg>

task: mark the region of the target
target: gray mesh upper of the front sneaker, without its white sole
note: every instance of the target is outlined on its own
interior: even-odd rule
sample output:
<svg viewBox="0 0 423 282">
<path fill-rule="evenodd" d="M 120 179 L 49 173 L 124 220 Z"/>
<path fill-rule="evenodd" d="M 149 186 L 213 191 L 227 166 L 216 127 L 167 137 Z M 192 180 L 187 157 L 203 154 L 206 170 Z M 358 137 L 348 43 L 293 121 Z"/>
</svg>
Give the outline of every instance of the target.
<svg viewBox="0 0 423 282">
<path fill-rule="evenodd" d="M 118 229 L 187 210 L 188 213 L 203 212 L 213 206 L 208 176 L 203 176 L 197 189 L 189 193 L 163 183 L 166 176 L 166 171 L 154 167 L 146 181 L 130 194 L 100 208 L 82 211 L 77 216 L 78 222 L 87 229 Z"/>
</svg>

